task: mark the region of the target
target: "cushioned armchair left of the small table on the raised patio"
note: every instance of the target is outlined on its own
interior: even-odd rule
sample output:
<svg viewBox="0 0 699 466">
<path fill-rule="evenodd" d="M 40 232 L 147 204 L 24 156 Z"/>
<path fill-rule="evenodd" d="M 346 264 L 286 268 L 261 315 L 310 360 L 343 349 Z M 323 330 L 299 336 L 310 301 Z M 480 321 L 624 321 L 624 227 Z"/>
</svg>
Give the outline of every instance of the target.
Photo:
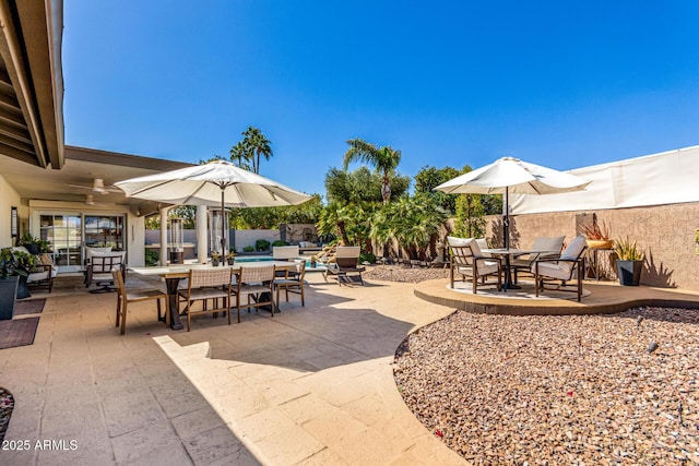
<svg viewBox="0 0 699 466">
<path fill-rule="evenodd" d="M 478 280 L 485 285 L 486 279 L 497 276 L 497 289 L 502 289 L 501 264 L 499 260 L 486 258 L 481 253 L 481 248 L 475 239 L 470 238 L 461 242 L 463 246 L 450 246 L 450 284 L 454 287 L 454 273 L 462 277 L 462 282 L 466 277 L 471 278 L 473 284 L 473 294 L 478 292 Z"/>
</svg>

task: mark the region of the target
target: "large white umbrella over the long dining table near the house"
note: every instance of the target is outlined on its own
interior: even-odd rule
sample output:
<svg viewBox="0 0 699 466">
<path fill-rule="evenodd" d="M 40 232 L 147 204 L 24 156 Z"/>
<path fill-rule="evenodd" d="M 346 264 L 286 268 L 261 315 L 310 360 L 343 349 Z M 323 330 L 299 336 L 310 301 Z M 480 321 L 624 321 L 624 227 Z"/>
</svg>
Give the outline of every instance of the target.
<svg viewBox="0 0 699 466">
<path fill-rule="evenodd" d="M 132 178 L 115 186 L 128 198 L 169 204 L 216 205 L 220 202 L 222 212 L 226 206 L 275 207 L 301 204 L 311 199 L 225 160 Z M 223 222 L 221 229 L 221 240 L 224 241 Z"/>
</svg>

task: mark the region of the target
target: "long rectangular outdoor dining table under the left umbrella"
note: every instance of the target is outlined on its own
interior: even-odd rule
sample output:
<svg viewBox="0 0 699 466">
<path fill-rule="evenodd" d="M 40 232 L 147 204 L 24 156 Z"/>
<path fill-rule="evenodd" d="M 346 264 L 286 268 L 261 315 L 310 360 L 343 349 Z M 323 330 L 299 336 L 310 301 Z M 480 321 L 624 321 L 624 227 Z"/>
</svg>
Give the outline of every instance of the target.
<svg viewBox="0 0 699 466">
<path fill-rule="evenodd" d="M 238 262 L 234 265 L 220 265 L 218 267 L 229 267 L 233 268 L 234 272 L 240 271 L 241 267 L 262 267 L 274 265 L 277 270 L 292 270 L 296 268 L 295 262 L 286 262 L 286 261 L 259 261 L 259 262 Z M 165 287 L 167 289 L 167 297 L 169 300 L 169 321 L 170 328 L 173 330 L 182 330 L 185 326 L 182 325 L 179 319 L 179 303 L 177 300 L 177 287 L 179 286 L 179 280 L 182 278 L 189 277 L 189 271 L 192 268 L 214 268 L 211 264 L 177 264 L 177 265 L 168 265 L 168 266 L 159 266 L 159 267 L 129 267 L 129 272 L 133 272 L 138 275 L 143 276 L 159 276 L 165 278 Z"/>
</svg>

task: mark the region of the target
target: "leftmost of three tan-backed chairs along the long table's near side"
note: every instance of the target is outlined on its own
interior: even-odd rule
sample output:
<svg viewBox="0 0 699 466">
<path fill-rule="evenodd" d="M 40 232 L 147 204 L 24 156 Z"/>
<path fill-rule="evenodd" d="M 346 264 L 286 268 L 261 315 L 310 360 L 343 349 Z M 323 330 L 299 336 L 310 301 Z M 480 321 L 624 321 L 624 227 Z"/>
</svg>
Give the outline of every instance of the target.
<svg viewBox="0 0 699 466">
<path fill-rule="evenodd" d="M 178 291 L 178 302 L 187 307 L 187 332 L 191 331 L 192 315 L 224 312 L 230 325 L 230 279 L 233 268 L 191 268 L 187 289 Z M 222 300 L 220 304 L 218 300 Z M 201 309 L 194 310 L 194 302 L 201 301 Z M 209 303 L 211 302 L 211 308 Z"/>
</svg>

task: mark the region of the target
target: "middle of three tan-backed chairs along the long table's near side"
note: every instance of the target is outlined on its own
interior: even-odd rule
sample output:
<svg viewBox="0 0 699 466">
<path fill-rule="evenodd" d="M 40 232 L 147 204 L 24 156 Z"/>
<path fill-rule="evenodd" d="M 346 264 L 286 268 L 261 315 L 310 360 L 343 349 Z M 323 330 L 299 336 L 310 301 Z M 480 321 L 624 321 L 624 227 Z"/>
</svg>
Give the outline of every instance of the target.
<svg viewBox="0 0 699 466">
<path fill-rule="evenodd" d="M 236 297 L 236 308 L 238 310 L 238 323 L 240 323 L 240 309 L 254 308 L 256 312 L 261 307 L 269 307 L 274 316 L 274 265 L 244 266 L 238 272 L 236 287 L 233 295 Z M 247 303 L 242 302 L 242 297 L 247 297 Z"/>
</svg>

